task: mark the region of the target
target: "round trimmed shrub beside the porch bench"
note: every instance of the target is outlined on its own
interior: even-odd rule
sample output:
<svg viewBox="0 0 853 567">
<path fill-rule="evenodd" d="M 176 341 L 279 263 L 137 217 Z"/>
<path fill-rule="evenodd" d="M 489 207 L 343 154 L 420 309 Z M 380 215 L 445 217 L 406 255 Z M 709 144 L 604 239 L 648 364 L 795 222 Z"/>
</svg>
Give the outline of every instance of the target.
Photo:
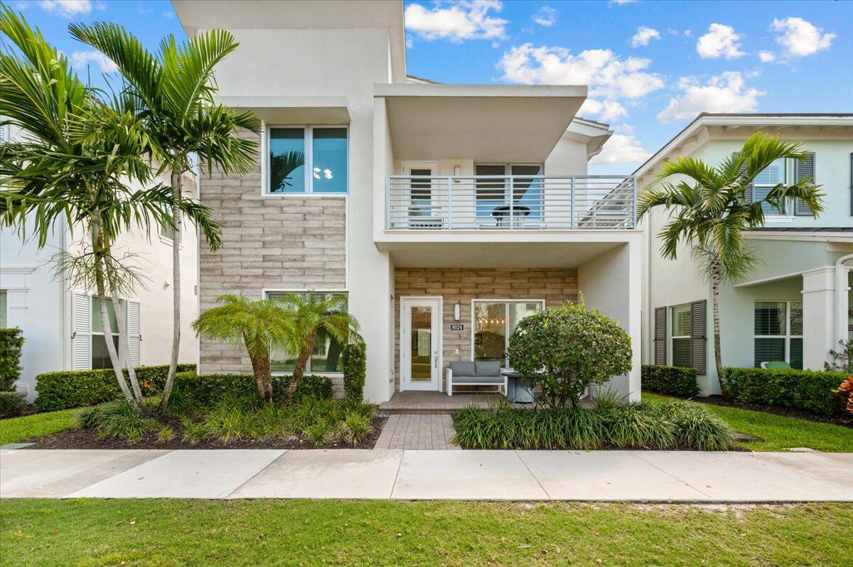
<svg viewBox="0 0 853 567">
<path fill-rule="evenodd" d="M 598 310 L 564 304 L 520 321 L 509 338 L 509 359 L 551 405 L 577 407 L 587 386 L 630 371 L 631 340 Z"/>
</svg>

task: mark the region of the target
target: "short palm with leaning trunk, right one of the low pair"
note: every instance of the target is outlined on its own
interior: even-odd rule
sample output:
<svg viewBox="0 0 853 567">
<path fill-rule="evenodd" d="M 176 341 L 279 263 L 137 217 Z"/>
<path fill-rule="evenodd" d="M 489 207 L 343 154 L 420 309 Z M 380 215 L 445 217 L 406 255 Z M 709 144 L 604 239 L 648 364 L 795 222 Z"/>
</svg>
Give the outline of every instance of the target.
<svg viewBox="0 0 853 567">
<path fill-rule="evenodd" d="M 343 295 L 325 297 L 313 291 L 304 295 L 287 293 L 279 301 L 287 310 L 287 333 L 281 338 L 281 345 L 287 352 L 298 354 L 293 376 L 287 386 L 289 403 L 293 401 L 305 375 L 305 367 L 316 345 L 317 333 L 326 334 L 338 344 L 361 343 L 363 339 L 358 333 L 357 319 L 345 310 L 346 297 Z"/>
</svg>

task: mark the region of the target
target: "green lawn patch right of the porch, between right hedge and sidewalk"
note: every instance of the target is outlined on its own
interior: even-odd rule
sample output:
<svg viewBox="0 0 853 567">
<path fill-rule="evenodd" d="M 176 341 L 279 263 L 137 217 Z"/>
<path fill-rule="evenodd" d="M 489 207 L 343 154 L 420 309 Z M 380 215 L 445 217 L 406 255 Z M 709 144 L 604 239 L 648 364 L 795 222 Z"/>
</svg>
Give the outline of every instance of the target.
<svg viewBox="0 0 853 567">
<path fill-rule="evenodd" d="M 642 393 L 643 402 L 662 402 L 670 399 L 673 398 Z M 792 447 L 810 447 L 829 453 L 853 452 L 853 429 L 849 427 L 748 409 L 724 408 L 710 403 L 702 405 L 727 422 L 734 431 L 763 437 L 764 443 L 739 443 L 753 451 L 786 451 Z"/>
</svg>

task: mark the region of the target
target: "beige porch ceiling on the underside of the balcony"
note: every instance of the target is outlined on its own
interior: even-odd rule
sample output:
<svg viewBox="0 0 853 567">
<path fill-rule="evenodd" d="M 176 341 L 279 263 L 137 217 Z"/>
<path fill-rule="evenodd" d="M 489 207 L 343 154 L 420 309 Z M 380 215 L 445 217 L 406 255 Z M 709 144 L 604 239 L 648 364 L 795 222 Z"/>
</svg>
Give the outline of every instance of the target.
<svg viewBox="0 0 853 567">
<path fill-rule="evenodd" d="M 577 268 L 624 242 L 397 242 L 397 268 Z"/>
</svg>

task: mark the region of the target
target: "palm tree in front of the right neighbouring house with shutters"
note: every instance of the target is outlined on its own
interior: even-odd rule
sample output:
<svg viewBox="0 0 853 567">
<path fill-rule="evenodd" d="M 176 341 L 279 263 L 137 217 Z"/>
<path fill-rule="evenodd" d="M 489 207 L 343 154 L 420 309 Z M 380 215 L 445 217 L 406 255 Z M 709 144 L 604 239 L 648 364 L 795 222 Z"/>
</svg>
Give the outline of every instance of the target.
<svg viewBox="0 0 853 567">
<path fill-rule="evenodd" d="M 804 159 L 803 145 L 782 142 L 779 136 L 756 132 L 739 153 L 716 167 L 700 159 L 678 158 L 664 164 L 659 180 L 683 176 L 678 182 L 661 182 L 659 188 L 642 194 L 637 202 L 637 217 L 654 207 L 670 211 L 670 220 L 658 234 L 663 257 L 675 259 L 680 242 L 691 247 L 702 274 L 711 281 L 714 318 L 714 362 L 723 393 L 725 384 L 720 351 L 720 284 L 739 281 L 760 261 L 747 245 L 744 232 L 764 226 L 764 207 L 780 211 L 793 199 L 802 200 L 817 217 L 823 207 L 820 185 L 810 179 L 779 183 L 762 198 L 750 198 L 756 176 L 776 159 Z"/>
</svg>

